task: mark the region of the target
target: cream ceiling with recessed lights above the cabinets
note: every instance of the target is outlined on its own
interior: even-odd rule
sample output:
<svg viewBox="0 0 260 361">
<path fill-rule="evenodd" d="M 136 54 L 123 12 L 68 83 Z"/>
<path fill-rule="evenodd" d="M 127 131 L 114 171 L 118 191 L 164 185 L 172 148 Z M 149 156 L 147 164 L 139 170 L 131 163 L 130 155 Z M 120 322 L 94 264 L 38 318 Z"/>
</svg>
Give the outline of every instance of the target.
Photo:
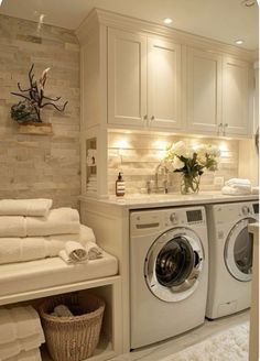
<svg viewBox="0 0 260 361">
<path fill-rule="evenodd" d="M 247 50 L 258 46 L 258 4 L 249 0 L 2 0 L 0 13 L 66 29 L 77 29 L 93 8 L 110 10 L 159 24 L 172 18 L 171 28 L 227 44 L 238 39 Z M 250 0 L 251 1 L 251 0 Z"/>
</svg>

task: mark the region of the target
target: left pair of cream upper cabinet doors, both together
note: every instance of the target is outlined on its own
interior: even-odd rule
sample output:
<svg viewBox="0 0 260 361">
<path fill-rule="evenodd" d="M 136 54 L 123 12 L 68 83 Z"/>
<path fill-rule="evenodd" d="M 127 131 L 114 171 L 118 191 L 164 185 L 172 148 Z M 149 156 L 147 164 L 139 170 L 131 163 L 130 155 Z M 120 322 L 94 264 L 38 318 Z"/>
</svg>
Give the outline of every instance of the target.
<svg viewBox="0 0 260 361">
<path fill-rule="evenodd" d="M 108 30 L 108 123 L 181 127 L 181 46 Z"/>
</svg>

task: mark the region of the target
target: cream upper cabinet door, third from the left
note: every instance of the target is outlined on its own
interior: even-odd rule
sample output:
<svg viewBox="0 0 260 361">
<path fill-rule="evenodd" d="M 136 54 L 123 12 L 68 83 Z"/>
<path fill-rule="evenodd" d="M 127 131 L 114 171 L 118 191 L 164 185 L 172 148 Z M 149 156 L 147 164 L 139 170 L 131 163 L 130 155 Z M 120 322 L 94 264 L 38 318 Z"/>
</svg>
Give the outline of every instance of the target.
<svg viewBox="0 0 260 361">
<path fill-rule="evenodd" d="M 187 51 L 187 127 L 217 134 L 221 123 L 221 57 Z"/>
</svg>

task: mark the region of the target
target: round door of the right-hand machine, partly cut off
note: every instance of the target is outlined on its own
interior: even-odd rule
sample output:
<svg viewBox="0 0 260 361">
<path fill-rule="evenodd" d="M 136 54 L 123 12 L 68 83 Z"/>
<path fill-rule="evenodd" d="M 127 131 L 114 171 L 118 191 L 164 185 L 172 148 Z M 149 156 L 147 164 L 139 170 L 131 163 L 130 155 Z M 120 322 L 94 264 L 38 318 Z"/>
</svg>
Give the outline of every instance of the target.
<svg viewBox="0 0 260 361">
<path fill-rule="evenodd" d="M 253 218 L 238 221 L 230 230 L 225 244 L 225 263 L 228 272 L 238 281 L 251 281 L 252 272 L 252 237 L 248 232 L 248 223 Z"/>
</svg>

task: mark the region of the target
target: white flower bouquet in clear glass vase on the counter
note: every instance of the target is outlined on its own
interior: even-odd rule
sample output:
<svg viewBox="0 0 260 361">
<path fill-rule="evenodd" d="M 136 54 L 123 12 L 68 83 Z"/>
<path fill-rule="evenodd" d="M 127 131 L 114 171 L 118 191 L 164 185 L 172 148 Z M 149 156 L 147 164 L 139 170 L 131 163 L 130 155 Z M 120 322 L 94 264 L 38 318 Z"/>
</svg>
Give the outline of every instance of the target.
<svg viewBox="0 0 260 361">
<path fill-rule="evenodd" d="M 180 141 L 173 143 L 166 151 L 163 163 L 169 171 L 182 173 L 181 192 L 183 194 L 197 193 L 204 169 L 216 171 L 219 155 L 220 152 L 216 145 L 201 144 L 191 149 Z"/>
</svg>

